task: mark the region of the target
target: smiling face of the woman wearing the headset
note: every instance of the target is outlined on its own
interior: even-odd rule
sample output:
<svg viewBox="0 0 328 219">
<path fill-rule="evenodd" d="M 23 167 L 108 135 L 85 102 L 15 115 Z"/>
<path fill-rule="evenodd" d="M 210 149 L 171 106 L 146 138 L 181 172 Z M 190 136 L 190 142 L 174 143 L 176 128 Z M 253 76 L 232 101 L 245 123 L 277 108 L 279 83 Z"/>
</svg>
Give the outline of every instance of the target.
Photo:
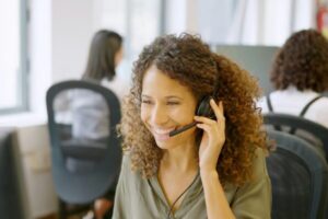
<svg viewBox="0 0 328 219">
<path fill-rule="evenodd" d="M 195 142 L 196 128 L 168 136 L 169 131 L 194 122 L 197 100 L 187 87 L 151 66 L 143 77 L 141 96 L 141 119 L 160 148 Z"/>
</svg>

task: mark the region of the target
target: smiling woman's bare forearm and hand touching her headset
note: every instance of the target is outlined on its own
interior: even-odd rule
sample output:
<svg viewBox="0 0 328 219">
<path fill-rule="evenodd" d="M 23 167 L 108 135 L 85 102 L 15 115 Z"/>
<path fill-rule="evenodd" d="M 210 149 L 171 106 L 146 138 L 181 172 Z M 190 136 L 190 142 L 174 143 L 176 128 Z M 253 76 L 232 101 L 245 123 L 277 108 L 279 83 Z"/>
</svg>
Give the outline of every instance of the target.
<svg viewBox="0 0 328 219">
<path fill-rule="evenodd" d="M 235 218 L 225 198 L 223 187 L 216 172 L 216 163 L 221 149 L 225 141 L 225 118 L 222 102 L 219 105 L 213 100 L 210 101 L 215 113 L 216 120 L 207 117 L 195 117 L 198 128 L 203 129 L 203 137 L 199 147 L 199 168 L 207 214 L 209 219 Z"/>
</svg>

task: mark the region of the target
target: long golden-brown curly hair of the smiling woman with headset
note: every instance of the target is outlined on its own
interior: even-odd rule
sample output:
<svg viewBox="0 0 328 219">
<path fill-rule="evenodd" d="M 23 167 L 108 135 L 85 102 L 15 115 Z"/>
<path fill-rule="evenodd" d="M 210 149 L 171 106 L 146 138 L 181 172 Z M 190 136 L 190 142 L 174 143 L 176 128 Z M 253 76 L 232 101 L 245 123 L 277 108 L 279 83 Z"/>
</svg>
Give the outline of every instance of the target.
<svg viewBox="0 0 328 219">
<path fill-rule="evenodd" d="M 255 149 L 266 148 L 266 135 L 260 130 L 262 117 L 255 104 L 260 94 L 257 81 L 233 61 L 212 53 L 199 36 L 190 34 L 157 37 L 134 62 L 133 85 L 124 103 L 120 127 L 122 147 L 130 153 L 132 170 L 145 177 L 153 176 L 163 153 L 140 118 L 142 80 L 152 65 L 190 88 L 198 101 L 213 95 L 215 101 L 223 102 L 226 140 L 216 165 L 220 180 L 235 185 L 249 180 Z"/>
</svg>

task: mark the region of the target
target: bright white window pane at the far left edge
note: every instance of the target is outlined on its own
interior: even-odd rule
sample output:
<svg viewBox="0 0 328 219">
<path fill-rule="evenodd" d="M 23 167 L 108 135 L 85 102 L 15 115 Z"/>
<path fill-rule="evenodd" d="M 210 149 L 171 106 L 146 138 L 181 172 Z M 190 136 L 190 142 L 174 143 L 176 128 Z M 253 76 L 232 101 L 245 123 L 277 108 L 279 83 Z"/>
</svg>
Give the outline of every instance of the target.
<svg viewBox="0 0 328 219">
<path fill-rule="evenodd" d="M 0 114 L 27 108 L 26 0 L 0 0 Z"/>
</svg>

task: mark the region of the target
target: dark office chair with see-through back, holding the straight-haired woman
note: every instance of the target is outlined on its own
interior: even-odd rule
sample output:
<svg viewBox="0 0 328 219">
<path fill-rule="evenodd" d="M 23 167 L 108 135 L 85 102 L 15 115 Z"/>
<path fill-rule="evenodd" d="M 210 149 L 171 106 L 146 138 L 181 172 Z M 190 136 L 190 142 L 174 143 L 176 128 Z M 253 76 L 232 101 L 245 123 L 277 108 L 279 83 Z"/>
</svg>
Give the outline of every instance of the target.
<svg viewBox="0 0 328 219">
<path fill-rule="evenodd" d="M 120 104 L 108 89 L 75 80 L 51 85 L 46 103 L 52 176 L 63 219 L 115 192 L 121 162 L 116 134 Z M 82 208 L 70 210 L 72 205 Z"/>
</svg>

